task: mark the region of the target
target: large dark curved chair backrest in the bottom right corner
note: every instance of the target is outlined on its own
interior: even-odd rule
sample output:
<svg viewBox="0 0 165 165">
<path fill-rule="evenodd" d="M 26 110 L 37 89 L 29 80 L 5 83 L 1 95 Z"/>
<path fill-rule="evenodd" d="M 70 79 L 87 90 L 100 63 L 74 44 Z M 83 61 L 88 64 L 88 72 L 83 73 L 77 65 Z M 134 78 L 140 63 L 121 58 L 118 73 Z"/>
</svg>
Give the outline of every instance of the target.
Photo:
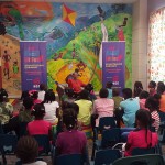
<svg viewBox="0 0 165 165">
<path fill-rule="evenodd" d="M 123 157 L 112 163 L 112 165 L 164 165 L 164 164 L 165 162 L 163 157 L 157 154 Z"/>
</svg>

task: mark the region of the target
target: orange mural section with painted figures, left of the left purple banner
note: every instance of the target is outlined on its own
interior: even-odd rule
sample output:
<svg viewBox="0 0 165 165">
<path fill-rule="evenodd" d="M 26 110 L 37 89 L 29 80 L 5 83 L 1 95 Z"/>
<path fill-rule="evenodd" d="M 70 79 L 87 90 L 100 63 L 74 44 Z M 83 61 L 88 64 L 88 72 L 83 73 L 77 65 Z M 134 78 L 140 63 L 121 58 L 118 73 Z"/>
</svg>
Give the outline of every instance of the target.
<svg viewBox="0 0 165 165">
<path fill-rule="evenodd" d="M 11 97 L 21 95 L 20 40 L 9 34 L 0 35 L 2 87 Z"/>
</svg>

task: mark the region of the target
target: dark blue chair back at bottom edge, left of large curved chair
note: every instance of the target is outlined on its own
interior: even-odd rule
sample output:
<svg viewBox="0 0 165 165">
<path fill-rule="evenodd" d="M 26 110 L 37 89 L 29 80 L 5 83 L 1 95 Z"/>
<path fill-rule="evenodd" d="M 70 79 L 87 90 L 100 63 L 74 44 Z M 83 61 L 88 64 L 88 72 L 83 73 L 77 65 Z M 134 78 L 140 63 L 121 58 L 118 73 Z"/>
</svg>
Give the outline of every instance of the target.
<svg viewBox="0 0 165 165">
<path fill-rule="evenodd" d="M 121 154 L 119 150 L 100 150 L 96 153 L 95 165 L 111 164 L 120 157 Z"/>
</svg>

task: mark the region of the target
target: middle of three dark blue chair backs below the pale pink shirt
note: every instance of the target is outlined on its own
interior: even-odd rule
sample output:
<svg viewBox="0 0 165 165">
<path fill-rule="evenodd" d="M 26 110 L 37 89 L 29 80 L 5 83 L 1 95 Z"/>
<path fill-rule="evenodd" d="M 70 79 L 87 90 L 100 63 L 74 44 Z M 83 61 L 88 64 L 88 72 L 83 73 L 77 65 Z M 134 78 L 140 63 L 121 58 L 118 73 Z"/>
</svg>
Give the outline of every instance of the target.
<svg viewBox="0 0 165 165">
<path fill-rule="evenodd" d="M 113 128 L 102 132 L 101 147 L 112 147 L 120 142 L 120 129 Z"/>
</svg>

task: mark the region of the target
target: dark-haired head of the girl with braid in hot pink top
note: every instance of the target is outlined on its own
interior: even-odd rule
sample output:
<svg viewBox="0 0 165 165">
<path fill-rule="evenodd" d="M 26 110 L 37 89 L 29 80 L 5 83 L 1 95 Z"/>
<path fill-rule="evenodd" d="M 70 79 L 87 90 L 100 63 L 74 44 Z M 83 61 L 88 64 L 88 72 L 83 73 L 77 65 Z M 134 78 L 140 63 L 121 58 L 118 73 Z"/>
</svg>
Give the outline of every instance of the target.
<svg viewBox="0 0 165 165">
<path fill-rule="evenodd" d="M 151 113 L 144 109 L 140 109 L 135 113 L 135 123 L 138 127 L 148 129 L 152 124 Z"/>
</svg>

